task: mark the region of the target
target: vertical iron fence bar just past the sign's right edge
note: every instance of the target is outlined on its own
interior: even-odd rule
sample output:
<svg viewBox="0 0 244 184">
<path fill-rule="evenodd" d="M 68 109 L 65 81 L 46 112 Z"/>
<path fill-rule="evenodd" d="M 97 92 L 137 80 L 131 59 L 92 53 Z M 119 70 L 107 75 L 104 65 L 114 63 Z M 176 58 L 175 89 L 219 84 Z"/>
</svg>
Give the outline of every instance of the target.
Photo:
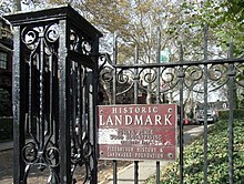
<svg viewBox="0 0 244 184">
<path fill-rule="evenodd" d="M 182 43 L 180 45 L 180 62 L 183 62 L 183 48 Z M 183 90 L 184 90 L 184 70 L 180 67 L 180 184 L 183 184 L 183 172 L 184 172 L 184 134 L 183 134 L 183 123 L 184 123 L 184 103 L 183 103 Z"/>
</svg>

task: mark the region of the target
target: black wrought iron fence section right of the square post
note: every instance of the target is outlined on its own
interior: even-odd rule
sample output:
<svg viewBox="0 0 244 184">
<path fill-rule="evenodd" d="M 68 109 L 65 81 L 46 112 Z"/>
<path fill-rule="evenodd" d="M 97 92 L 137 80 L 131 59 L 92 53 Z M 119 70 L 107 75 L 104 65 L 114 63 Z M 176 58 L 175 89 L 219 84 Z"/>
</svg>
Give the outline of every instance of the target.
<svg viewBox="0 0 244 184">
<path fill-rule="evenodd" d="M 190 99 L 190 108 L 192 112 L 196 114 L 196 111 L 202 109 L 203 117 L 199 122 L 204 125 L 204 164 L 203 172 L 204 178 L 202 183 L 207 183 L 207 129 L 210 120 L 207 117 L 209 110 L 213 106 L 210 102 L 211 94 L 214 95 L 215 101 L 218 99 L 218 90 L 225 86 L 227 91 L 227 100 L 224 102 L 224 106 L 221 101 L 216 101 L 216 110 L 228 109 L 228 183 L 233 184 L 234 181 L 234 136 L 233 136 L 233 124 L 234 124 L 234 109 L 235 109 L 235 93 L 236 90 L 243 90 L 243 81 L 240 80 L 243 76 L 243 59 L 233 59 L 233 42 L 230 47 L 228 59 L 207 59 L 207 31 L 204 32 L 204 58 L 201 61 L 183 61 L 183 51 L 180 47 L 180 60 L 175 63 L 161 63 L 160 62 L 160 34 L 159 44 L 156 48 L 155 62 L 153 63 L 140 63 L 139 61 L 139 45 L 136 40 L 130 40 L 128 43 L 124 42 L 120 37 L 115 37 L 114 42 L 114 55 L 113 60 L 106 57 L 106 60 L 100 67 L 100 83 L 105 88 L 104 95 L 106 98 L 104 104 L 139 104 L 139 103 L 177 103 L 179 104 L 179 167 L 180 167 L 180 180 L 181 184 L 184 183 L 184 125 L 186 119 L 186 103 L 185 99 Z M 123 45 L 133 45 L 131 51 L 134 50 L 134 55 L 129 63 L 124 61 L 119 62 L 119 42 Z M 129 58 L 131 59 L 131 58 Z M 238 88 L 237 88 L 238 86 Z M 172 101 L 169 96 L 177 92 L 177 102 Z M 202 103 L 196 104 L 194 98 L 202 95 Z M 222 106 L 220 106 L 220 104 Z M 211 106 L 212 105 L 212 106 Z M 193 115 L 194 115 L 193 114 Z M 189 119 L 189 116 L 187 116 Z M 214 116 L 211 121 L 215 122 L 217 116 Z M 192 119 L 193 120 L 193 119 Z M 196 123 L 196 122 L 195 122 Z M 241 154 L 241 153 L 240 153 Z M 155 183 L 160 183 L 160 162 L 155 163 L 156 166 L 156 180 Z M 118 161 L 113 161 L 113 183 L 118 183 Z M 187 173 L 186 173 L 187 174 Z M 139 178 L 139 162 L 134 161 L 134 183 L 138 184 Z"/>
</svg>

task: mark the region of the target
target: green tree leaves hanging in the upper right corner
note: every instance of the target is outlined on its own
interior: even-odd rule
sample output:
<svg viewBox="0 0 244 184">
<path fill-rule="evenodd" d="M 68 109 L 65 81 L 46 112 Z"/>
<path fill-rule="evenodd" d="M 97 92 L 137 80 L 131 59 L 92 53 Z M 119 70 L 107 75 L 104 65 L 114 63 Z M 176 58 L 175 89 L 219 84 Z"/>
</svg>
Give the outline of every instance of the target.
<svg viewBox="0 0 244 184">
<path fill-rule="evenodd" d="M 181 6 L 184 14 L 189 12 L 194 17 L 194 20 L 187 23 L 189 28 L 203 28 L 206 23 L 209 25 L 209 39 L 212 44 L 227 51 L 231 38 L 233 38 L 234 57 L 243 57 L 244 50 L 240 45 L 244 43 L 244 2 L 242 0 L 209 0 L 201 6 L 197 6 L 197 3 L 185 1 Z"/>
</svg>

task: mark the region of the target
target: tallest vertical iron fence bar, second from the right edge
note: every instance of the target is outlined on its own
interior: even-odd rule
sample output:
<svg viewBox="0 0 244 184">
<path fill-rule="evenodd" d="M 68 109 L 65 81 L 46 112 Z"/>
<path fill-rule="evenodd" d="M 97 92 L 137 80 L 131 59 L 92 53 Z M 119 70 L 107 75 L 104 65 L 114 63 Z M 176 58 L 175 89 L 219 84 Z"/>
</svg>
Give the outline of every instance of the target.
<svg viewBox="0 0 244 184">
<path fill-rule="evenodd" d="M 204 24 L 204 61 L 207 61 L 207 24 Z M 204 184 L 207 183 L 207 64 L 204 64 Z"/>
</svg>

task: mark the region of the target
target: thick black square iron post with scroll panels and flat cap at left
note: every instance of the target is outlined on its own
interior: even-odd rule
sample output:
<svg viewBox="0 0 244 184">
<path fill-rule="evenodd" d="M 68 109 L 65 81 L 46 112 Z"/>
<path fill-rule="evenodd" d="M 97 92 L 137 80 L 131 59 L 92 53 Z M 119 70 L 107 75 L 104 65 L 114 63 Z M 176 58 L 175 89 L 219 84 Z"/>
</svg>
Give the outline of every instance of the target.
<svg viewBox="0 0 244 184">
<path fill-rule="evenodd" d="M 79 165 L 85 165 L 85 182 L 96 183 L 94 121 L 102 34 L 70 6 L 19 12 L 7 19 L 14 29 L 14 184 L 27 183 L 35 166 L 49 171 L 50 183 L 72 183 Z M 92 71 L 91 81 L 84 75 L 80 81 L 81 68 Z M 78 86 L 81 83 L 85 84 Z M 83 121 L 89 129 L 75 132 L 75 117 L 88 106 L 81 103 L 81 88 L 92 113 L 91 122 Z M 84 117 L 85 111 L 82 113 Z M 78 136 L 83 139 L 79 143 Z"/>
</svg>

